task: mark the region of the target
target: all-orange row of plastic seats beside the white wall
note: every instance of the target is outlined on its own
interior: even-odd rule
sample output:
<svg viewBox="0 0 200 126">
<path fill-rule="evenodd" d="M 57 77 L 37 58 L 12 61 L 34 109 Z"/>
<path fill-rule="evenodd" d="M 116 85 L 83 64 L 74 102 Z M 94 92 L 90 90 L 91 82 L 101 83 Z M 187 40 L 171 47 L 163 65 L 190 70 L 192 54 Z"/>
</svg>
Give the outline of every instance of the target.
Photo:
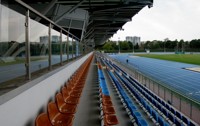
<svg viewBox="0 0 200 126">
<path fill-rule="evenodd" d="M 84 88 L 90 56 L 56 94 L 55 102 L 47 105 L 47 113 L 39 114 L 35 119 L 36 126 L 72 126 L 77 104 Z"/>
</svg>

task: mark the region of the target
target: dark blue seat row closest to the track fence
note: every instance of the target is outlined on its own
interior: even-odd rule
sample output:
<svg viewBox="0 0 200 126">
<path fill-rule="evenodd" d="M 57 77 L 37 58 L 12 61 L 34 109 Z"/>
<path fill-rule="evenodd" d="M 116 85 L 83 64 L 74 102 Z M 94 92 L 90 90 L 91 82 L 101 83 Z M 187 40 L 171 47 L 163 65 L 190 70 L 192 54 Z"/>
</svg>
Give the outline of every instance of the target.
<svg viewBox="0 0 200 126">
<path fill-rule="evenodd" d="M 132 77 L 127 76 L 127 74 L 118 66 L 115 64 L 112 64 L 115 69 L 123 73 L 123 77 L 126 78 L 134 87 L 136 87 L 141 94 L 145 96 L 156 108 L 158 108 L 166 117 L 168 117 L 173 123 L 176 125 L 188 125 L 188 126 L 194 126 L 194 122 L 185 117 L 183 114 L 181 114 L 179 111 L 175 110 L 172 106 L 170 106 L 168 103 L 166 103 L 164 100 L 161 100 L 157 95 L 149 91 L 146 87 L 139 84 L 136 80 L 134 80 Z M 182 121 L 181 121 L 182 120 Z"/>
</svg>

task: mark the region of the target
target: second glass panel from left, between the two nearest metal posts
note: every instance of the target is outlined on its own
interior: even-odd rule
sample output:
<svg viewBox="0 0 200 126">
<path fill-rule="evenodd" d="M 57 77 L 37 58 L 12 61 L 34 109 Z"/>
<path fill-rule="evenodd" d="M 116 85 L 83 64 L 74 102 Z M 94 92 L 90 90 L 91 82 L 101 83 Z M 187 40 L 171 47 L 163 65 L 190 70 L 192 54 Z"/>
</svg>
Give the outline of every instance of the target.
<svg viewBox="0 0 200 126">
<path fill-rule="evenodd" d="M 47 68 L 48 27 L 30 19 L 31 72 Z"/>
</svg>

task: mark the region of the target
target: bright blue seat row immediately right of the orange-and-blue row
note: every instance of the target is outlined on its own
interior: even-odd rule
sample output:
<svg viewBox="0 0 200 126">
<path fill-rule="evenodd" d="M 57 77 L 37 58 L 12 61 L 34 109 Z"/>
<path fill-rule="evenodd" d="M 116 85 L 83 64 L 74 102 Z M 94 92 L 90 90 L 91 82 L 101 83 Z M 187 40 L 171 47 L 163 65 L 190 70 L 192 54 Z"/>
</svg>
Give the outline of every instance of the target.
<svg viewBox="0 0 200 126">
<path fill-rule="evenodd" d="M 121 87 L 119 81 L 116 79 L 114 74 L 108 70 L 108 74 L 114 84 L 114 87 L 116 88 L 118 95 L 123 103 L 123 106 L 126 108 L 131 121 L 135 125 L 135 123 L 139 126 L 148 126 L 147 121 L 143 118 L 141 113 L 137 110 L 137 107 L 133 104 L 129 96 L 126 94 L 124 89 Z"/>
</svg>

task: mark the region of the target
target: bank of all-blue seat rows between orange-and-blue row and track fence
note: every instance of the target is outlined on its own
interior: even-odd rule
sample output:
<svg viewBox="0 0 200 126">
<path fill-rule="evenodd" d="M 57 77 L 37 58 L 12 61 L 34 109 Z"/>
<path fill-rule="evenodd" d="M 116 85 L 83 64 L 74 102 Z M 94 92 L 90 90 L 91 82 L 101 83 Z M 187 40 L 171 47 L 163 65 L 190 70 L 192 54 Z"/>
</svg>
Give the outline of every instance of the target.
<svg viewBox="0 0 200 126">
<path fill-rule="evenodd" d="M 168 126 L 195 126 L 195 122 L 186 117 L 183 113 L 172 107 L 166 101 L 155 95 L 152 91 L 141 85 L 137 80 L 129 76 L 111 60 L 100 57 L 107 67 L 107 72 L 119 93 L 119 97 L 127 109 L 132 122 L 137 125 L 148 125 L 142 115 L 137 112 L 130 98 L 124 90 L 131 93 L 146 114 L 152 119 L 155 125 Z"/>
</svg>

